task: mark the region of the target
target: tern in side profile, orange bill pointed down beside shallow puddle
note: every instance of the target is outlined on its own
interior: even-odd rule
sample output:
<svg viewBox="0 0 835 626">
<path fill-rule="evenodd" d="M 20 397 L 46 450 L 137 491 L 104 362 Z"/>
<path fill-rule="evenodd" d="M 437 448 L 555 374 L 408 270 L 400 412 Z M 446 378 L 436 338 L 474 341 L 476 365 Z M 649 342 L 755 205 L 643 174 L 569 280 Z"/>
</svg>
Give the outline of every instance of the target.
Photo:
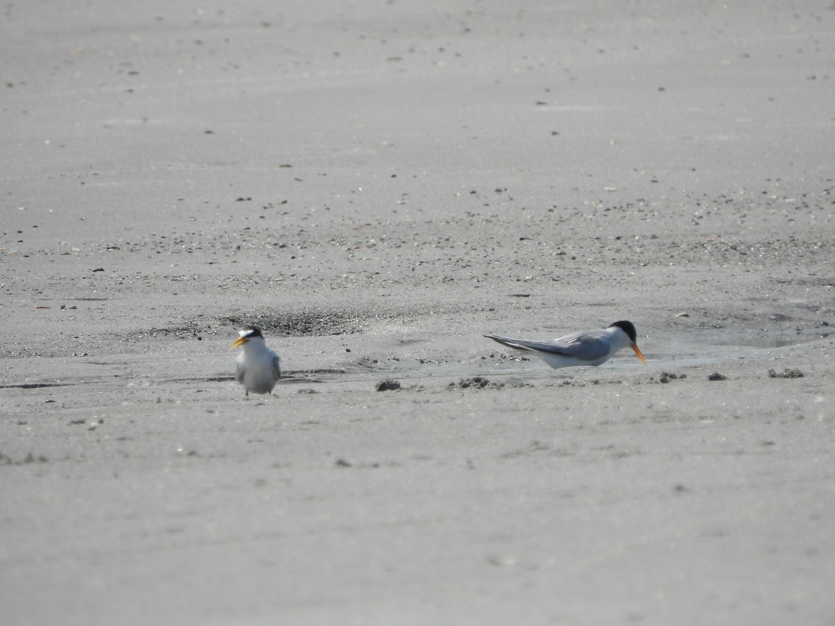
<svg viewBox="0 0 835 626">
<path fill-rule="evenodd" d="M 638 358 L 646 364 L 644 355 L 635 343 L 635 325 L 630 321 L 616 321 L 608 328 L 598 331 L 578 331 L 558 337 L 552 341 L 528 341 L 511 339 L 498 335 L 485 335 L 502 346 L 525 352 L 533 352 L 540 359 L 554 367 L 599 366 L 609 361 L 615 352 L 632 348 Z"/>
</svg>

